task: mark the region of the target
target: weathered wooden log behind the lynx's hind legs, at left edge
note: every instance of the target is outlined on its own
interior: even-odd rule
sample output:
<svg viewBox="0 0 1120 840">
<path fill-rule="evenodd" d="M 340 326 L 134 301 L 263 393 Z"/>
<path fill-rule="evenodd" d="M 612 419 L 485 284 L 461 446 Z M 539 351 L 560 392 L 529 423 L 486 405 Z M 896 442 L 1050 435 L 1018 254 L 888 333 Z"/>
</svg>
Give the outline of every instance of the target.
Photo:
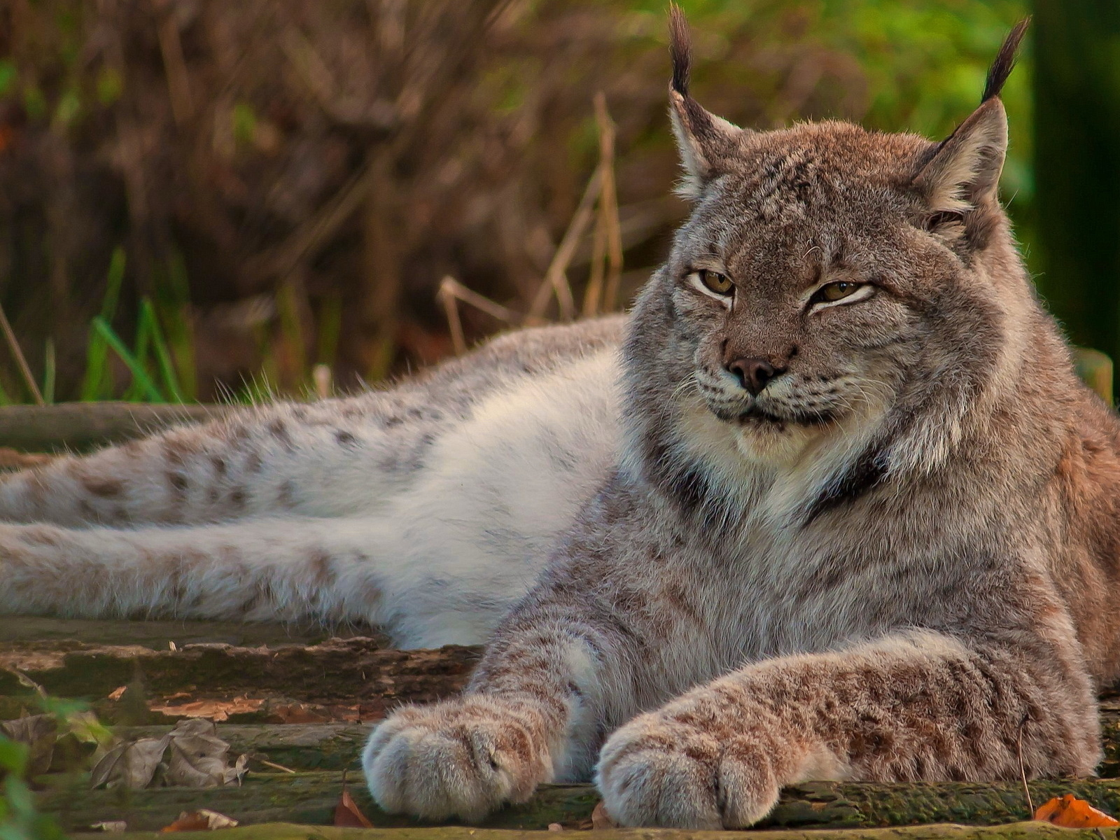
<svg viewBox="0 0 1120 840">
<path fill-rule="evenodd" d="M 239 408 L 136 402 L 6 405 L 0 409 L 0 447 L 27 452 L 85 451 L 171 426 L 213 420 Z"/>
</svg>

